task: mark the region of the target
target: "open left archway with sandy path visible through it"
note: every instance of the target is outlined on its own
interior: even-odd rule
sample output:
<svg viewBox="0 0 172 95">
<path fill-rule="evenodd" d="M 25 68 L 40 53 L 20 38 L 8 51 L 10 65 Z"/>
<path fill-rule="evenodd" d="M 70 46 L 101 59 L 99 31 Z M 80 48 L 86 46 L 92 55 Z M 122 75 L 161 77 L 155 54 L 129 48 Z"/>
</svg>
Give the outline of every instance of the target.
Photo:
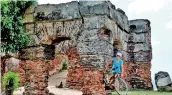
<svg viewBox="0 0 172 95">
<path fill-rule="evenodd" d="M 65 52 L 66 52 L 66 49 L 70 46 L 69 44 L 67 44 L 67 46 L 64 44 L 67 43 L 66 41 L 69 42 L 71 40 L 72 40 L 71 37 L 65 36 L 65 35 L 59 35 L 52 40 L 52 46 L 55 47 L 55 56 L 50 64 L 51 71 L 49 71 L 50 76 L 48 79 L 49 80 L 48 85 L 50 86 L 51 85 L 56 85 L 57 87 L 66 86 L 66 78 L 67 78 L 68 71 L 67 70 L 63 72 L 61 71 L 62 71 L 64 62 L 67 62 L 66 63 L 67 66 L 69 65 L 69 56 Z M 57 52 L 56 49 L 59 49 L 59 51 L 61 52 Z M 57 74 L 59 74 L 59 76 Z"/>
</svg>

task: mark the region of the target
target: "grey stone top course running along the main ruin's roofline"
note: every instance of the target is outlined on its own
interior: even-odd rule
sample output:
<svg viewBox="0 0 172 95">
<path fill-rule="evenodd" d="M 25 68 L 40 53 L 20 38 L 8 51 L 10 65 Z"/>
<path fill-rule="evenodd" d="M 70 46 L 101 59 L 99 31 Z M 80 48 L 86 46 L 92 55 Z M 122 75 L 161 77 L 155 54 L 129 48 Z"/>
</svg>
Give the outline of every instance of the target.
<svg viewBox="0 0 172 95">
<path fill-rule="evenodd" d="M 107 15 L 109 19 L 115 20 L 119 26 L 125 27 L 123 30 L 129 31 L 127 15 L 122 9 L 116 9 L 109 0 L 41 4 L 34 10 L 36 21 L 78 19 L 91 15 Z"/>
</svg>

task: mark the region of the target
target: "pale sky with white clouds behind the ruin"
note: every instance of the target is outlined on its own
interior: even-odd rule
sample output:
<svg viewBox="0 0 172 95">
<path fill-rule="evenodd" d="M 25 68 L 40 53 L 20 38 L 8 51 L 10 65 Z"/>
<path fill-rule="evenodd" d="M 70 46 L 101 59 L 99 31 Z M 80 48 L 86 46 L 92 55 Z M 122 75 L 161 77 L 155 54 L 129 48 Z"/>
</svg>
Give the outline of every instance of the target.
<svg viewBox="0 0 172 95">
<path fill-rule="evenodd" d="M 39 4 L 59 4 L 72 0 L 38 0 Z M 78 1 L 78 0 L 75 0 Z M 172 0 L 110 0 L 125 11 L 129 20 L 149 19 L 153 49 L 152 79 L 158 71 L 172 78 Z"/>
</svg>

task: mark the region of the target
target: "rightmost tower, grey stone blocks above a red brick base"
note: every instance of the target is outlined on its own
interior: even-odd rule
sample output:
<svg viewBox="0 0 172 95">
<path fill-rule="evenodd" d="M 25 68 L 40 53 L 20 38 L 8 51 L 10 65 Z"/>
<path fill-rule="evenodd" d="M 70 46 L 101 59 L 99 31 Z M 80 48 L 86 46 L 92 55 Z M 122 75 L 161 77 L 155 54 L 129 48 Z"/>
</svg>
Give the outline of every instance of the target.
<svg viewBox="0 0 172 95">
<path fill-rule="evenodd" d="M 128 62 L 125 69 L 126 78 L 131 88 L 150 89 L 151 84 L 151 28 L 150 21 L 137 19 L 130 21 L 128 40 Z"/>
</svg>

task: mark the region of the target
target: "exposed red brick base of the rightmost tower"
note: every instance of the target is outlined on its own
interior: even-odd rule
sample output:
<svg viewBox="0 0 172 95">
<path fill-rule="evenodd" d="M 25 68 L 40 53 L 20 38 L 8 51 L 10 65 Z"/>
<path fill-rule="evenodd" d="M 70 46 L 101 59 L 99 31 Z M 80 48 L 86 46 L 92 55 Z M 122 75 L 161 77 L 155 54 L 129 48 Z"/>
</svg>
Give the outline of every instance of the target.
<svg viewBox="0 0 172 95">
<path fill-rule="evenodd" d="M 151 65 L 149 62 L 124 63 L 124 79 L 130 89 L 151 89 Z"/>
</svg>

